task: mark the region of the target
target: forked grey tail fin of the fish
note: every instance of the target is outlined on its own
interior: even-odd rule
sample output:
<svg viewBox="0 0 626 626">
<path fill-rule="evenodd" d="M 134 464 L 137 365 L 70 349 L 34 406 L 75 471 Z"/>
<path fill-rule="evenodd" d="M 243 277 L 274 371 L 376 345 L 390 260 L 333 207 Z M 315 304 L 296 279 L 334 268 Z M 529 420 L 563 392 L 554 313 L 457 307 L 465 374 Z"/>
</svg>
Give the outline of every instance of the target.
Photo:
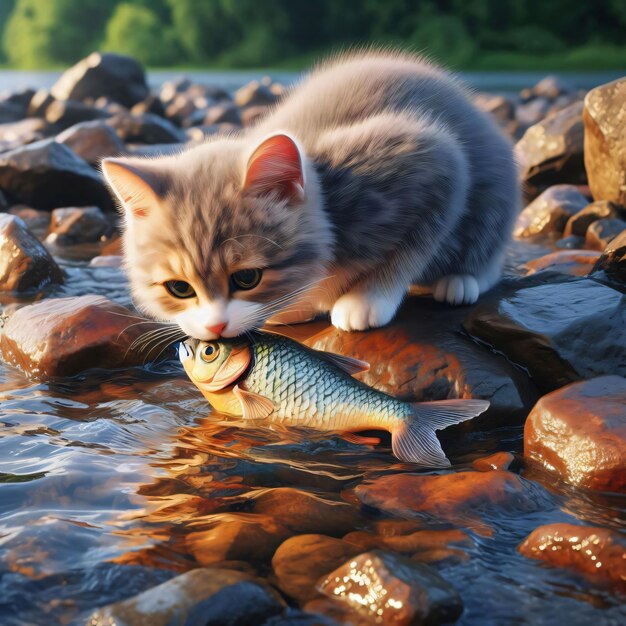
<svg viewBox="0 0 626 626">
<path fill-rule="evenodd" d="M 408 418 L 391 433 L 393 453 L 401 460 L 425 467 L 450 467 L 435 431 L 459 424 L 489 408 L 487 400 L 416 402 Z"/>
</svg>

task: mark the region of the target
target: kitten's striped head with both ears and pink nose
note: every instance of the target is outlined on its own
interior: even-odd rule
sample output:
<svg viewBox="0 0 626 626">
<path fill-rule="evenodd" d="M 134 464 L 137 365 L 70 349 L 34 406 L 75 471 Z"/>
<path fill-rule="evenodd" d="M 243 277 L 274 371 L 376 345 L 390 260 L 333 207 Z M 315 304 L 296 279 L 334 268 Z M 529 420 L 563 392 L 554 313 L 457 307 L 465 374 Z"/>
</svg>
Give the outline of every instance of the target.
<svg viewBox="0 0 626 626">
<path fill-rule="evenodd" d="M 106 159 L 139 307 L 192 337 L 234 337 L 297 306 L 332 248 L 313 168 L 278 134 L 156 159 Z"/>
</svg>

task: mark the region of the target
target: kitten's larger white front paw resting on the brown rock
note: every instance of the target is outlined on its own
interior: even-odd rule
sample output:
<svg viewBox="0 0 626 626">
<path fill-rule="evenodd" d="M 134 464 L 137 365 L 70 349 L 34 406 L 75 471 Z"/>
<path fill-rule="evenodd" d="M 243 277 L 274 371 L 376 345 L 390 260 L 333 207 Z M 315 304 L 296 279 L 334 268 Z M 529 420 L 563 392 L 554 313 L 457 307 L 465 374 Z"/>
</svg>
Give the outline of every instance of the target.
<svg viewBox="0 0 626 626">
<path fill-rule="evenodd" d="M 378 293 L 351 291 L 333 306 L 330 320 L 341 330 L 366 330 L 388 324 L 398 310 L 400 301 Z"/>
</svg>

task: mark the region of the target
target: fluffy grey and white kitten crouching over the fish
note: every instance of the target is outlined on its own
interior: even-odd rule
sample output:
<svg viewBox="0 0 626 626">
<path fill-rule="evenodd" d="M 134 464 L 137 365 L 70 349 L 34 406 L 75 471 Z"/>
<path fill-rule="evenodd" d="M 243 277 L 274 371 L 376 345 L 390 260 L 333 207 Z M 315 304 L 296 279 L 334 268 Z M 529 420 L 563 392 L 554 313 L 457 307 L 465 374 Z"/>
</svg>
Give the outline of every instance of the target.
<svg viewBox="0 0 626 626">
<path fill-rule="evenodd" d="M 389 52 L 322 65 L 239 134 L 102 169 L 138 305 L 204 340 L 327 311 L 382 326 L 412 282 L 472 303 L 520 199 L 495 123 L 450 75 Z"/>
</svg>

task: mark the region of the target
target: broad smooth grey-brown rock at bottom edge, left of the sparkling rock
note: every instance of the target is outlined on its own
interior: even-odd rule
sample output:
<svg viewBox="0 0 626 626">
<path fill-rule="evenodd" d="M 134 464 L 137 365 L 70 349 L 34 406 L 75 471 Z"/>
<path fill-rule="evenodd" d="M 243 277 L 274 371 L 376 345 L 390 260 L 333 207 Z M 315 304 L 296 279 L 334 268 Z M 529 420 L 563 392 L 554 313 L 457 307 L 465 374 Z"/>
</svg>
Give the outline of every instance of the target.
<svg viewBox="0 0 626 626">
<path fill-rule="evenodd" d="M 261 579 L 227 569 L 200 568 L 98 609 L 86 624 L 263 624 L 284 608 L 280 596 Z"/>
</svg>

